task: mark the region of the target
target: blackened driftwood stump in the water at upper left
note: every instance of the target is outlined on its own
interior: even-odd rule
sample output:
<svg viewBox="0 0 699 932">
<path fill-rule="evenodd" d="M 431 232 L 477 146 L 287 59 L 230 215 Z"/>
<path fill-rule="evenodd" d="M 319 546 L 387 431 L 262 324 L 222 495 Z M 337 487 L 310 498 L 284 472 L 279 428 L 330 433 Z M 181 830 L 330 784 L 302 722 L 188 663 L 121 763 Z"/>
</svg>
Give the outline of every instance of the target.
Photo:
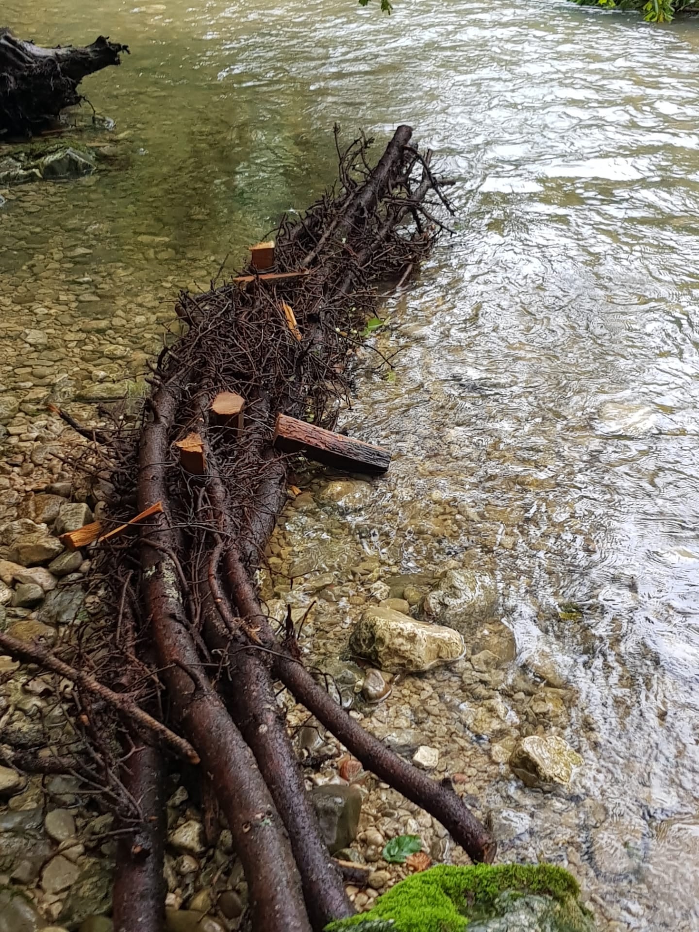
<svg viewBox="0 0 699 932">
<path fill-rule="evenodd" d="M 33 136 L 83 97 L 82 79 L 120 63 L 128 46 L 100 35 L 89 46 L 42 48 L 0 29 L 0 137 Z"/>
</svg>

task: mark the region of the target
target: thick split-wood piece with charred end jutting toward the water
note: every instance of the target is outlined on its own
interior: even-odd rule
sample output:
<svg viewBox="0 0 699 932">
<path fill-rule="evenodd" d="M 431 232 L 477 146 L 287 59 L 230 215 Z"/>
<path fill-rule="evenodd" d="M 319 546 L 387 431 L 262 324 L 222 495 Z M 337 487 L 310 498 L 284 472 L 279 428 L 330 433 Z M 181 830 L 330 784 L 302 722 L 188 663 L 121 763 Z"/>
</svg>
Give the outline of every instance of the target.
<svg viewBox="0 0 699 932">
<path fill-rule="evenodd" d="M 284 453 L 303 453 L 307 459 L 349 473 L 385 473 L 391 463 L 391 453 L 381 446 L 325 431 L 285 414 L 277 415 L 274 445 Z"/>
</svg>

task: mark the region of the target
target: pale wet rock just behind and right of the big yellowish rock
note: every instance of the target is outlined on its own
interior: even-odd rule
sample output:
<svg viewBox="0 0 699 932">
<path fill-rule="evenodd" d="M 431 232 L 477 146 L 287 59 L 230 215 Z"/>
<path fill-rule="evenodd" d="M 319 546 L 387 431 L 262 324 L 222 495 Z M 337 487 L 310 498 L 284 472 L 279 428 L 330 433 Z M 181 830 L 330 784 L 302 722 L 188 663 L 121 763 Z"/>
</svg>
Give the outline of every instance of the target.
<svg viewBox="0 0 699 932">
<path fill-rule="evenodd" d="M 475 624 L 492 616 L 497 598 L 492 576 L 477 569 L 449 569 L 425 596 L 422 610 L 429 621 L 471 635 Z"/>
</svg>

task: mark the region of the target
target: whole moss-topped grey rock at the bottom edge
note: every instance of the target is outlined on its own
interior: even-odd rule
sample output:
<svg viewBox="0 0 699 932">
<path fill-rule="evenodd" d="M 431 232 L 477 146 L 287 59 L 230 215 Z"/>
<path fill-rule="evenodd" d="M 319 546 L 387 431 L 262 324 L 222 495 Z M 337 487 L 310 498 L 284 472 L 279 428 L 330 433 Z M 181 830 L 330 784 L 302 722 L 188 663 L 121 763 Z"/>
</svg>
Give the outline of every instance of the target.
<svg viewBox="0 0 699 932">
<path fill-rule="evenodd" d="M 593 932 L 580 888 L 552 864 L 441 865 L 406 878 L 369 912 L 325 932 Z"/>
</svg>

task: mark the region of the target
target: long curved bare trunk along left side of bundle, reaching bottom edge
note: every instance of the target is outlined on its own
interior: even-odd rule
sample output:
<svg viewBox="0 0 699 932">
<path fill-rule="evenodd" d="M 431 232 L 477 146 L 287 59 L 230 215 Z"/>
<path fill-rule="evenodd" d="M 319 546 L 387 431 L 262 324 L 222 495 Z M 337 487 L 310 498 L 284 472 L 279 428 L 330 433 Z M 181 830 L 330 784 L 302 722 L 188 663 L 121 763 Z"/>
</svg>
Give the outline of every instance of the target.
<svg viewBox="0 0 699 932">
<path fill-rule="evenodd" d="M 163 387 L 152 403 L 140 445 L 139 506 L 167 501 L 165 469 L 170 459 L 169 430 L 178 391 Z M 199 747 L 201 765 L 211 774 L 216 795 L 233 835 L 250 890 L 254 927 L 259 932 L 309 932 L 301 883 L 289 838 L 245 744 L 209 678 L 190 630 L 174 554 L 177 540 L 167 511 L 142 532 L 144 596 L 171 712 Z"/>
</svg>

